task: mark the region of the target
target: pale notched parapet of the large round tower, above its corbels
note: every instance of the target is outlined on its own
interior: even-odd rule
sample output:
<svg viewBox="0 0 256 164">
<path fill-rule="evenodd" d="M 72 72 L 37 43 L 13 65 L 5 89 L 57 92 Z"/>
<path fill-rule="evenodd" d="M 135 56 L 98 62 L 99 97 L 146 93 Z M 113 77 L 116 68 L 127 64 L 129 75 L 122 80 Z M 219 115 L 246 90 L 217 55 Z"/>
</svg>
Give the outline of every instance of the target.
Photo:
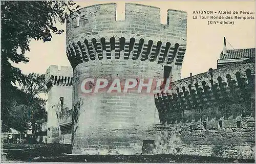
<svg viewBox="0 0 256 164">
<path fill-rule="evenodd" d="M 121 38 L 143 36 L 145 41 L 161 40 L 163 43 L 178 42 L 186 46 L 187 13 L 185 11 L 167 11 L 167 25 L 160 24 L 160 9 L 139 4 L 125 4 L 125 20 L 116 20 L 116 4 L 102 4 L 82 8 L 79 26 L 77 19 L 67 24 L 67 42 L 78 42 L 80 38 L 101 37 Z M 83 17 L 83 18 L 82 18 Z M 89 39 L 90 40 L 90 39 Z"/>
</svg>

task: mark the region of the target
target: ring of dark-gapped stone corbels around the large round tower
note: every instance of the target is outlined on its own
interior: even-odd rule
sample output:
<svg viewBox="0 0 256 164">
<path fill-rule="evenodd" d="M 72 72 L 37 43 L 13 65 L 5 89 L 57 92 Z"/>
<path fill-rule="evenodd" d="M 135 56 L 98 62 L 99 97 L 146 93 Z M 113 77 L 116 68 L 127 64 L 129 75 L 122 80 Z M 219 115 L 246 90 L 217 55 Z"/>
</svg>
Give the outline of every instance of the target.
<svg viewBox="0 0 256 164">
<path fill-rule="evenodd" d="M 140 38 L 93 38 L 79 40 L 67 47 L 67 56 L 73 68 L 77 64 L 89 61 L 104 61 L 110 59 L 140 60 L 157 62 L 159 64 L 182 65 L 186 47 L 179 43 L 162 43 Z"/>
</svg>

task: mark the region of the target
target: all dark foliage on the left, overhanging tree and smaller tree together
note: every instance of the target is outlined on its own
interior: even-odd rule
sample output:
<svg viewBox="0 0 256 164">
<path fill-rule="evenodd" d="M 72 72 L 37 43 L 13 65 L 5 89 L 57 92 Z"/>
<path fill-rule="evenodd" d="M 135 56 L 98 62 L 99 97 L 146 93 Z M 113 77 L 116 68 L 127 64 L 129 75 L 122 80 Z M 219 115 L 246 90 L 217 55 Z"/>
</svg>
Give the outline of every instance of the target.
<svg viewBox="0 0 256 164">
<path fill-rule="evenodd" d="M 72 1 L 2 1 L 1 2 L 1 114 L 3 129 L 20 126 L 21 122 L 40 118 L 45 100 L 36 95 L 45 92 L 44 75 L 23 75 L 12 66 L 28 63 L 25 56 L 31 39 L 50 41 L 52 34 L 62 34 L 56 22 L 65 23 L 68 17 L 75 18 L 77 6 Z M 78 11 L 79 13 L 79 11 Z M 36 54 L 35 54 L 36 55 Z M 17 82 L 22 89 L 16 87 Z M 14 85 L 13 85 L 14 84 Z M 27 114 L 26 114 L 27 112 Z M 38 114 L 38 115 L 37 115 Z M 28 117 L 26 115 L 29 115 Z M 19 119 L 17 119 L 19 118 Z M 15 123 L 16 121 L 16 123 Z M 13 123 L 12 123 L 13 122 Z"/>
</svg>

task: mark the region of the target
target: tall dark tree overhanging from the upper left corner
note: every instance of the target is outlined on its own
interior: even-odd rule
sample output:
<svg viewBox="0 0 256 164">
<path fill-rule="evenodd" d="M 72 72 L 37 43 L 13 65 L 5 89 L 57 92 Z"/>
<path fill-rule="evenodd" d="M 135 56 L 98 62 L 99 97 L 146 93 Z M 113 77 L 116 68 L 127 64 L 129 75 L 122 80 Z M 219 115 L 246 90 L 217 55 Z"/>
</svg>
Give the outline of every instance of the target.
<svg viewBox="0 0 256 164">
<path fill-rule="evenodd" d="M 13 104 L 28 103 L 27 94 L 33 98 L 33 89 L 20 91 L 17 83 L 26 86 L 26 76 L 22 71 L 11 65 L 11 62 L 28 63 L 25 56 L 29 51 L 30 39 L 50 41 L 52 34 L 62 34 L 63 29 L 55 26 L 56 22 L 65 23 L 67 18 L 75 18 L 79 6 L 72 1 L 2 1 L 1 2 L 1 114 L 3 129 L 10 125 Z M 79 11 L 77 11 L 80 13 Z M 20 52 L 18 51 L 20 50 Z M 22 94 L 22 97 L 17 96 Z M 23 97 L 24 96 L 24 97 Z M 25 100 L 23 100 L 25 99 Z M 10 103 L 15 101 L 15 103 Z M 22 103 L 23 102 L 23 103 Z M 25 104 L 26 104 L 25 103 Z"/>
</svg>

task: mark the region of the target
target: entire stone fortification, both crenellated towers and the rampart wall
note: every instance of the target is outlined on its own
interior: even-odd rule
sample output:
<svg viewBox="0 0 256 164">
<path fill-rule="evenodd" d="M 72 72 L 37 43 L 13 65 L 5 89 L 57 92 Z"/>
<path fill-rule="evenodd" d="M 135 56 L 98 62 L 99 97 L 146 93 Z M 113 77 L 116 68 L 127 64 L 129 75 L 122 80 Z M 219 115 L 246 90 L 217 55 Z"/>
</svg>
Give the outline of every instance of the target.
<svg viewBox="0 0 256 164">
<path fill-rule="evenodd" d="M 160 9 L 151 6 L 126 4 L 124 21 L 116 21 L 116 4 L 80 11 L 67 24 L 73 76 L 72 68 L 57 66 L 46 75 L 50 143 L 72 143 L 75 154 L 254 158 L 254 58 L 245 59 L 255 49 L 232 62 L 238 57 L 227 50 L 218 69 L 181 79 L 186 12 L 169 9 L 162 25 Z M 87 78 L 163 78 L 172 89 L 86 95 Z"/>
</svg>

